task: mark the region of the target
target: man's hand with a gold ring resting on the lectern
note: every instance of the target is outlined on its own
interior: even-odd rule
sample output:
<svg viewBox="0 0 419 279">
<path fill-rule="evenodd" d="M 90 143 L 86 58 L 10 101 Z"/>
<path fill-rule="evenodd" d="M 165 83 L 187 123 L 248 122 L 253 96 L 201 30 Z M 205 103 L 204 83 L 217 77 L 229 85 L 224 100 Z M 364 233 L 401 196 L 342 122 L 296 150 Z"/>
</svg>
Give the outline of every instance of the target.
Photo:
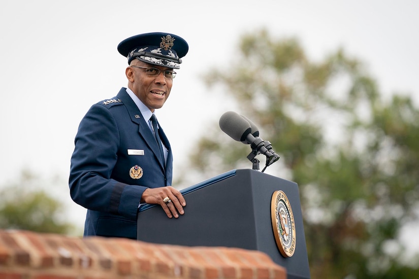
<svg viewBox="0 0 419 279">
<path fill-rule="evenodd" d="M 171 202 L 164 202 L 165 198 L 169 198 Z M 160 204 L 169 218 L 178 218 L 178 212 L 183 215 L 183 206 L 186 205 L 182 194 L 172 186 L 147 188 L 143 192 L 141 202 Z"/>
</svg>

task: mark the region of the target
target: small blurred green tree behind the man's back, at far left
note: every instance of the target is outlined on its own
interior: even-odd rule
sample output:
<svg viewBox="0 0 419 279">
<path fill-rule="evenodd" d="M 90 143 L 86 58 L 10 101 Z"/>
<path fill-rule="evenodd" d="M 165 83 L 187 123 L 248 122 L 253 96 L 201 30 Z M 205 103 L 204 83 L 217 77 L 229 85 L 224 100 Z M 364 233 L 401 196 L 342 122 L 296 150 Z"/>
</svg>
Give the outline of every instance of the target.
<svg viewBox="0 0 419 279">
<path fill-rule="evenodd" d="M 63 203 L 42 190 L 40 184 L 47 182 L 27 171 L 20 178 L 0 189 L 0 228 L 74 234 L 75 226 L 65 221 Z"/>
</svg>

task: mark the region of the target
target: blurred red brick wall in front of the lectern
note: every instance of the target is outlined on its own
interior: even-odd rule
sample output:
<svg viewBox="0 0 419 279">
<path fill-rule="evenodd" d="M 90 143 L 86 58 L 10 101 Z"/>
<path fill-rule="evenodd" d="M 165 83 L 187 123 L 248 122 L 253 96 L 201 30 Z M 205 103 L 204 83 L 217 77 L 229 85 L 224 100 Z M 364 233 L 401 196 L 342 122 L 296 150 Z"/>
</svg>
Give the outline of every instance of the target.
<svg viewBox="0 0 419 279">
<path fill-rule="evenodd" d="M 259 251 L 0 230 L 0 278 L 283 279 L 286 271 Z"/>
</svg>

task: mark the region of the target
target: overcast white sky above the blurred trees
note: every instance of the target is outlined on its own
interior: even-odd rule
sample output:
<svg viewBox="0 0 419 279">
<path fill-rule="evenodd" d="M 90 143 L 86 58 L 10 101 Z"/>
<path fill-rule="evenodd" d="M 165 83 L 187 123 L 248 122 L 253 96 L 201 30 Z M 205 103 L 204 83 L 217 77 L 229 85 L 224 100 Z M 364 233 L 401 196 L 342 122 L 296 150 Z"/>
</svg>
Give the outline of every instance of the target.
<svg viewBox="0 0 419 279">
<path fill-rule="evenodd" d="M 278 38 L 296 37 L 314 59 L 344 47 L 369 65 L 382 92 L 417 95 L 418 13 L 415 0 L 3 1 L 0 185 L 23 168 L 67 180 L 81 118 L 126 86 L 127 62 L 116 46 L 127 37 L 162 31 L 189 43 L 170 98 L 157 111 L 176 177 L 194 138 L 229 110 L 223 92 L 208 91 L 199 75 L 227 64 L 241 34 L 266 27 Z M 187 125 L 171 125 L 173 118 Z"/>
</svg>

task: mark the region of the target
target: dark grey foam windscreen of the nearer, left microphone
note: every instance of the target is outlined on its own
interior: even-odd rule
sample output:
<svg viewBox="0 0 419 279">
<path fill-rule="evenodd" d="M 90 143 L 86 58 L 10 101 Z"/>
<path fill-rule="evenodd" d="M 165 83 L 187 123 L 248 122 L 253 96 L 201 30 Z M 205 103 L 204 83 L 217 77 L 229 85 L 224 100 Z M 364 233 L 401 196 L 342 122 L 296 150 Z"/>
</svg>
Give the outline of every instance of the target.
<svg viewBox="0 0 419 279">
<path fill-rule="evenodd" d="M 221 130 L 233 140 L 243 142 L 251 132 L 251 126 L 243 117 L 235 112 L 226 112 L 219 120 Z"/>
</svg>

